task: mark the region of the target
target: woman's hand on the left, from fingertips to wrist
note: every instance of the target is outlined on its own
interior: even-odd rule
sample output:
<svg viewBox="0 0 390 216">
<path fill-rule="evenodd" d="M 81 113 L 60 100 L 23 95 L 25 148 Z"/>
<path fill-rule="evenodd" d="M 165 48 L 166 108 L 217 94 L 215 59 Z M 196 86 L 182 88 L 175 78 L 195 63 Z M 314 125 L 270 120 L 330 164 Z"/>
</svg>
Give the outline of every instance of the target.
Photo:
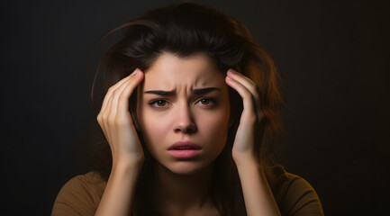
<svg viewBox="0 0 390 216">
<path fill-rule="evenodd" d="M 143 79 L 140 69 L 111 86 L 104 96 L 97 121 L 104 132 L 113 155 L 113 166 L 118 163 L 141 165 L 144 159 L 140 139 L 129 112 L 129 100 Z"/>
</svg>

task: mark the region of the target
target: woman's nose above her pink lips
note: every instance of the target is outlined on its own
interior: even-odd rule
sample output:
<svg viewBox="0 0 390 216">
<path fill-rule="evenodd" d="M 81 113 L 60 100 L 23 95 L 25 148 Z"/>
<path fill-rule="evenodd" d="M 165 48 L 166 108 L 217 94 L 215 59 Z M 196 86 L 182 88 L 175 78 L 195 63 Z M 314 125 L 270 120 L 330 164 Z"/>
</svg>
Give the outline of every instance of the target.
<svg viewBox="0 0 390 216">
<path fill-rule="evenodd" d="M 174 130 L 176 133 L 194 133 L 196 131 L 196 124 L 193 118 L 193 114 L 187 104 L 177 105 Z"/>
</svg>

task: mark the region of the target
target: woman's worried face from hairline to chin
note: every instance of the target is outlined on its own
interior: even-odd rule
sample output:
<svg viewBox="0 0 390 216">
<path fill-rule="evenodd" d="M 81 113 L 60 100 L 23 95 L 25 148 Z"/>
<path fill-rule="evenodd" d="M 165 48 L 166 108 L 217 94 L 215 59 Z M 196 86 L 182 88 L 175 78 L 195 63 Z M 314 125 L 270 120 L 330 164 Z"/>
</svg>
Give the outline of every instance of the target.
<svg viewBox="0 0 390 216">
<path fill-rule="evenodd" d="M 150 154 L 177 174 L 210 165 L 224 148 L 229 128 L 225 74 L 201 53 L 186 58 L 163 53 L 144 74 L 137 117 Z M 178 141 L 196 146 L 172 147 Z"/>
</svg>

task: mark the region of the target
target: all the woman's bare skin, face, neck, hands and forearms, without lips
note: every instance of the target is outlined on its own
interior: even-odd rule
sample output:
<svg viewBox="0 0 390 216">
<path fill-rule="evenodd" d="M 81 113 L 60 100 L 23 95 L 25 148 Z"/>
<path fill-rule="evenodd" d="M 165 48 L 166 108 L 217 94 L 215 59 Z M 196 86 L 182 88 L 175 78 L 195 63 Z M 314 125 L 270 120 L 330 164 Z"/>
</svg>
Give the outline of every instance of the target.
<svg viewBox="0 0 390 216">
<path fill-rule="evenodd" d="M 244 107 L 231 154 L 246 210 L 249 216 L 280 215 L 264 171 L 254 157 L 255 131 L 263 118 L 258 86 L 231 69 L 227 73 L 218 71 L 201 53 L 187 58 L 163 53 L 145 73 L 137 69 L 108 90 L 97 121 L 112 149 L 113 171 L 96 215 L 126 215 L 132 209 L 129 203 L 144 159 L 128 112 L 130 96 L 137 86 L 137 127 L 150 154 L 159 162 L 159 179 L 153 185 L 154 206 L 167 215 L 219 215 L 207 193 L 213 160 L 221 153 L 230 126 L 228 85 L 240 94 Z M 192 90 L 204 87 L 220 90 L 193 94 Z M 145 93 L 151 90 L 173 94 L 161 98 Z M 216 103 L 202 100 L 208 97 L 215 98 Z M 156 99 L 164 101 L 156 103 Z M 174 158 L 167 148 L 177 140 L 191 140 L 202 151 L 191 160 Z"/>
</svg>

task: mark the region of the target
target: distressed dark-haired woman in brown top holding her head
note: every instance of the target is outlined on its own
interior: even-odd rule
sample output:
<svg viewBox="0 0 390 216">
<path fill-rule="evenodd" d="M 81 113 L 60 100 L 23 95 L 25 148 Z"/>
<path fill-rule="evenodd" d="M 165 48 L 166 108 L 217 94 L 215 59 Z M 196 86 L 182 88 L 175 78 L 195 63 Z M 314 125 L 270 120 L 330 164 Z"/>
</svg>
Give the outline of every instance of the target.
<svg viewBox="0 0 390 216">
<path fill-rule="evenodd" d="M 242 23 L 184 2 L 119 29 L 93 86 L 108 157 L 52 215 L 323 215 L 273 165 L 279 76 Z"/>
</svg>

